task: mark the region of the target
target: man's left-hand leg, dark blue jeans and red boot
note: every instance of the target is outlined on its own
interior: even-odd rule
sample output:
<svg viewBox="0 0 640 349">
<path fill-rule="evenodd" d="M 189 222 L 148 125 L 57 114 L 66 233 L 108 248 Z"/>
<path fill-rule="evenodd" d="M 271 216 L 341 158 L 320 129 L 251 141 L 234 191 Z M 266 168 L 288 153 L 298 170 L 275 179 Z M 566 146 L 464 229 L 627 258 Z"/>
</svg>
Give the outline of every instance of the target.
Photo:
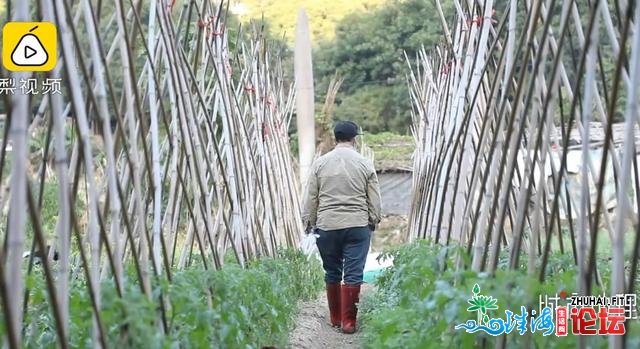
<svg viewBox="0 0 640 349">
<path fill-rule="evenodd" d="M 342 230 L 324 231 L 317 229 L 319 235 L 316 240 L 318 252 L 322 258 L 322 267 L 324 268 L 324 281 L 327 289 L 327 303 L 329 305 L 329 314 L 331 317 L 331 325 L 339 327 L 341 319 L 340 292 L 342 281 Z"/>
</svg>

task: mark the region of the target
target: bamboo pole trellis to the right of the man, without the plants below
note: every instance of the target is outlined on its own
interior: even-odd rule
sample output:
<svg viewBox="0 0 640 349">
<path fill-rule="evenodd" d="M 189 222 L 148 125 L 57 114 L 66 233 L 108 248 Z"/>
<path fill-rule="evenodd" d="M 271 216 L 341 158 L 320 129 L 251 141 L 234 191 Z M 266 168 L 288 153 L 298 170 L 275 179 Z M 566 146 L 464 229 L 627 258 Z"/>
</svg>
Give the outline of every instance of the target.
<svg viewBox="0 0 640 349">
<path fill-rule="evenodd" d="M 528 272 L 541 280 L 552 248 L 573 253 L 579 292 L 589 294 L 600 279 L 596 245 L 604 235 L 612 246 L 611 293 L 634 292 L 640 7 L 512 0 L 494 12 L 491 0 L 455 5 L 453 30 L 441 15 L 447 45 L 419 52 L 409 74 L 417 150 L 408 238 L 461 243 L 477 271 L 495 271 L 504 249 L 509 267 L 518 268 L 527 252 Z M 615 113 L 624 115 L 623 136 L 612 134 Z M 598 144 L 590 142 L 592 124 L 604 130 Z M 581 139 L 577 174 L 567 170 L 570 131 Z M 608 182 L 613 205 L 603 200 Z M 629 241 L 631 260 L 624 257 Z M 620 340 L 611 346 L 620 348 Z"/>
</svg>

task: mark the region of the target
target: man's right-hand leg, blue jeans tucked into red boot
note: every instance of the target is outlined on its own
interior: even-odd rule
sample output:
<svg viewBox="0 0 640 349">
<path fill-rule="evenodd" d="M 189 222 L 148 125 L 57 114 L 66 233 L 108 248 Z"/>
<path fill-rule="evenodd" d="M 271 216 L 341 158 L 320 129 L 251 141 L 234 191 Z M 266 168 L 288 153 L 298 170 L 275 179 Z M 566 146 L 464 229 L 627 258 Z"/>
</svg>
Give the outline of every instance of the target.
<svg viewBox="0 0 640 349">
<path fill-rule="evenodd" d="M 343 242 L 344 285 L 341 290 L 342 331 L 356 331 L 356 304 L 360 301 L 360 285 L 363 282 L 364 266 L 367 262 L 371 230 L 369 227 L 346 229 Z"/>
</svg>

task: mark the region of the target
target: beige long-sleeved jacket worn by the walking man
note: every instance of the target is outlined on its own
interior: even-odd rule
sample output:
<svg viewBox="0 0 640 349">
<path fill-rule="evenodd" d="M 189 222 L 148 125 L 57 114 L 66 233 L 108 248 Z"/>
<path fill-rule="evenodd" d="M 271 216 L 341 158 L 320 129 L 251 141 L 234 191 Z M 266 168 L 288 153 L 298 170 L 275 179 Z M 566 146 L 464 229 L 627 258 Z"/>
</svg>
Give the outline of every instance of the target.
<svg viewBox="0 0 640 349">
<path fill-rule="evenodd" d="M 305 227 L 337 230 L 380 222 L 380 187 L 371 161 L 349 144 L 313 163 L 302 206 Z"/>
</svg>

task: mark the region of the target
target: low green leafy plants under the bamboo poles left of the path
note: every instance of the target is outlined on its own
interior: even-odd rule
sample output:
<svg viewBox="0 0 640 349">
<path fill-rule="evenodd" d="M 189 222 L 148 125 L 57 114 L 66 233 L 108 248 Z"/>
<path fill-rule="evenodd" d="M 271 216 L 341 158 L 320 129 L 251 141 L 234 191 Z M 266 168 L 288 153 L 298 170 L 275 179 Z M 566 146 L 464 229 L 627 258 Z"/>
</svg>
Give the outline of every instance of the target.
<svg viewBox="0 0 640 349">
<path fill-rule="evenodd" d="M 131 268 L 127 275 L 134 275 Z M 154 280 L 153 299 L 132 278 L 123 297 L 118 297 L 113 280 L 104 280 L 101 320 L 108 345 L 116 348 L 283 347 L 298 301 L 317 294 L 322 276 L 316 260 L 307 261 L 297 250 L 282 250 L 276 258 L 256 260 L 244 269 L 230 264 L 218 271 L 177 271 L 172 283 Z M 27 285 L 32 292 L 25 346 L 55 347 L 55 322 L 39 270 Z M 160 296 L 165 300 L 166 334 L 158 321 Z M 72 280 L 69 299 L 70 346 L 91 347 L 91 299 L 83 278 Z"/>
</svg>

